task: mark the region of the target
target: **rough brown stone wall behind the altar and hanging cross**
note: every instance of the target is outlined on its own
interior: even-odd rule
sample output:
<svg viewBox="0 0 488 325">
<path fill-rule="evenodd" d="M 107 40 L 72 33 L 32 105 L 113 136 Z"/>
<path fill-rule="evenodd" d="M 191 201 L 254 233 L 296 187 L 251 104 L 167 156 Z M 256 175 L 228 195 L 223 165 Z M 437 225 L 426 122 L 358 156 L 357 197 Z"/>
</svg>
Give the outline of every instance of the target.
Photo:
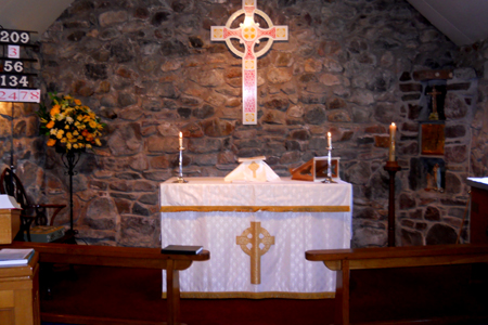
<svg viewBox="0 0 488 325">
<path fill-rule="evenodd" d="M 184 170 L 202 177 L 226 176 L 237 157 L 255 155 L 288 176 L 290 167 L 325 155 L 331 131 L 342 179 L 354 184 L 352 245 L 384 246 L 385 140 L 395 121 L 402 167 L 397 243 L 452 240 L 467 199 L 463 179 L 476 135 L 470 126 L 476 123 L 477 87 L 470 69 L 454 69 L 454 44 L 403 0 L 258 1 L 273 24 L 290 26 L 290 40 L 259 58 L 259 122 L 243 126 L 241 60 L 209 40 L 210 26 L 224 25 L 241 5 L 76 0 L 42 36 L 43 92 L 72 93 L 107 123 L 103 146 L 84 154 L 77 168 L 79 236 L 100 245 L 158 246 L 158 184 L 176 172 L 179 130 L 188 141 Z M 446 103 L 452 133 L 444 157 L 446 192 L 425 193 L 412 180 L 424 91 L 413 75 L 437 69 L 454 69 Z M 20 135 L 26 145 L 16 154 L 20 170 L 38 198 L 66 202 L 59 154 L 27 131 L 35 123 L 30 108 L 22 119 L 29 122 Z M 7 152 L 2 157 L 9 164 Z M 66 222 L 67 211 L 61 217 Z"/>
</svg>

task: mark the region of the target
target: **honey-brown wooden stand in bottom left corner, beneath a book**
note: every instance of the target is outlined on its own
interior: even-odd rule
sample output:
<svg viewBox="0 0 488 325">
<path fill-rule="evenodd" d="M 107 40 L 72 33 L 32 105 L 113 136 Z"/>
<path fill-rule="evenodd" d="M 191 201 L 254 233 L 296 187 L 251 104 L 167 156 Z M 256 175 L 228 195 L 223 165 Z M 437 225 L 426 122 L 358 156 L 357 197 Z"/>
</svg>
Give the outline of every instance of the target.
<svg viewBox="0 0 488 325">
<path fill-rule="evenodd" d="M 40 325 L 39 253 L 25 266 L 0 268 L 0 324 Z"/>
</svg>

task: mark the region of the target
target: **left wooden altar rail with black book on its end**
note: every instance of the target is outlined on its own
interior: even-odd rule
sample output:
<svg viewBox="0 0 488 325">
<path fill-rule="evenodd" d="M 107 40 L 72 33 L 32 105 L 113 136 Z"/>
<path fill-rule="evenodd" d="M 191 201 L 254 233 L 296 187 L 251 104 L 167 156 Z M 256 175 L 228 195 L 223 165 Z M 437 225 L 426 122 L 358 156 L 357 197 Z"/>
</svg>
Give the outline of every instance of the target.
<svg viewBox="0 0 488 325">
<path fill-rule="evenodd" d="M 13 242 L 2 247 L 34 248 L 38 251 L 39 262 L 66 263 L 78 265 L 100 265 L 138 269 L 166 270 L 168 322 L 160 324 L 178 325 L 180 323 L 180 283 L 179 271 L 187 270 L 193 261 L 210 259 L 210 252 L 203 250 L 198 255 L 164 255 L 160 248 L 110 247 L 92 245 L 43 244 Z M 42 315 L 42 313 L 41 313 Z M 53 320 L 51 320 L 53 321 Z M 60 320 L 66 322 L 65 316 Z M 142 324 L 123 320 L 94 320 L 89 324 Z"/>
</svg>

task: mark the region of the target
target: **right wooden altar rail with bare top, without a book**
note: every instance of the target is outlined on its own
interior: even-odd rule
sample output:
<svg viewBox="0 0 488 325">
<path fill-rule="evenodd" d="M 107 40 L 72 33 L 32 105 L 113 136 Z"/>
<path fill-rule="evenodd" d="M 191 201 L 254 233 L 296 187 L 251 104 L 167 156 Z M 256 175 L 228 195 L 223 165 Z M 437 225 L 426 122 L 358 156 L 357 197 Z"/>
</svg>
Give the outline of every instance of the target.
<svg viewBox="0 0 488 325">
<path fill-rule="evenodd" d="M 488 262 L 488 244 L 307 250 L 305 258 L 336 271 L 335 325 L 349 325 L 350 271 Z"/>
</svg>

